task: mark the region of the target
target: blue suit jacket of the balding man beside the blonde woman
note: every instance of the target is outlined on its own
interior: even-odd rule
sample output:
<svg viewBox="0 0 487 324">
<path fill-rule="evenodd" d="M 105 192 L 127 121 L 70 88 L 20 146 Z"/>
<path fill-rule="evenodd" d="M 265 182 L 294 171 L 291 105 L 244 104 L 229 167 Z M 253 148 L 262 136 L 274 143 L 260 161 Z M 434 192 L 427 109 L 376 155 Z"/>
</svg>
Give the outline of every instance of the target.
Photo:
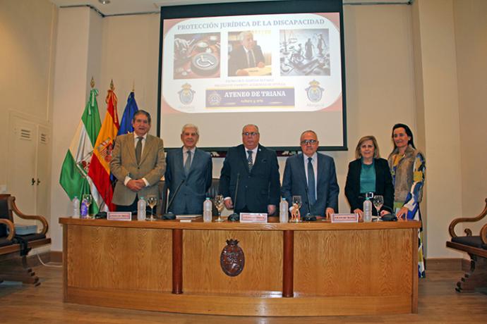
<svg viewBox="0 0 487 324">
<path fill-rule="evenodd" d="M 331 156 L 318 153 L 318 176 L 316 177 L 316 202 L 311 206 L 311 215 L 325 216 L 326 208 L 330 207 L 338 213 L 338 193 L 337 173 L 335 171 L 335 161 Z M 284 177 L 282 179 L 282 197 L 286 198 L 289 206 L 292 204 L 293 196 L 301 196 L 303 204 L 299 211 L 301 216 L 308 213 L 308 195 L 306 189 L 308 181 L 304 170 L 303 154 L 291 156 L 286 160 Z"/>
</svg>

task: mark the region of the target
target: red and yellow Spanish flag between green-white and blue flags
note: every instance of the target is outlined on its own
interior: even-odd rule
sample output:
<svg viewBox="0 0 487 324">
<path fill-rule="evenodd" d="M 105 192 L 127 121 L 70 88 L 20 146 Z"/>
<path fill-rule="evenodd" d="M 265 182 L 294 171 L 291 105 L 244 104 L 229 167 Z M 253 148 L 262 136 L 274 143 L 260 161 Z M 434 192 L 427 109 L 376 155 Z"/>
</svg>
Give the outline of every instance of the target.
<svg viewBox="0 0 487 324">
<path fill-rule="evenodd" d="M 114 211 L 115 206 L 112 204 L 114 194 L 112 182 L 110 182 L 110 160 L 112 159 L 112 149 L 116 133 L 119 131 L 119 116 L 116 113 L 116 95 L 112 89 L 107 94 L 107 113 L 103 120 L 102 128 L 97 137 L 97 142 L 93 147 L 93 156 L 91 158 L 90 170 L 88 175 L 92 178 L 100 195 L 108 206 L 109 211 Z"/>
</svg>

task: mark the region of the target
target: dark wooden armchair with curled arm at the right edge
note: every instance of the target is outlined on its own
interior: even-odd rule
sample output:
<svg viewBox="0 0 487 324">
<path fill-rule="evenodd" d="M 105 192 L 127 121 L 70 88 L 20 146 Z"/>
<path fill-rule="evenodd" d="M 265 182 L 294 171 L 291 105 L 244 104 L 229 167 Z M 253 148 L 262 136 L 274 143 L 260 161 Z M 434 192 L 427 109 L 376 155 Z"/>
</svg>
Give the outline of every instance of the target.
<svg viewBox="0 0 487 324">
<path fill-rule="evenodd" d="M 450 223 L 449 231 L 452 237 L 447 242 L 447 247 L 459 251 L 467 252 L 470 256 L 470 270 L 465 273 L 464 277 L 457 282 L 455 290 L 457 292 L 474 292 L 475 288 L 487 288 L 487 222 L 483 218 L 487 215 L 487 198 L 486 206 L 479 216 L 472 218 L 455 218 Z M 479 222 L 483 220 L 483 227 L 479 235 L 472 235 L 469 228 L 464 230 L 465 235 L 457 236 L 455 226 L 464 222 Z"/>
</svg>

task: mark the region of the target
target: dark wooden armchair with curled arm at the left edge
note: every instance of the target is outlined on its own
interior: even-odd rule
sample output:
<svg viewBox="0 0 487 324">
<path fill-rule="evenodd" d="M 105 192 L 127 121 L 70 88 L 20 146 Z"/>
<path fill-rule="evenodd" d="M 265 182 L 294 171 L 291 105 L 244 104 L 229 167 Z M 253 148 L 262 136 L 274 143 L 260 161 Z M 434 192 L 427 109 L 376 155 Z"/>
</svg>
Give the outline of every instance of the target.
<svg viewBox="0 0 487 324">
<path fill-rule="evenodd" d="M 19 211 L 15 201 L 16 198 L 10 194 L 0 194 L 0 282 L 21 281 L 37 286 L 40 285 L 39 278 L 28 266 L 27 256 L 30 249 L 51 244 L 51 239 L 46 237 L 49 225 L 42 216 L 25 215 Z M 40 221 L 41 232 L 18 235 L 13 222 L 13 213 L 25 220 Z M 20 256 L 20 263 L 18 256 Z"/>
</svg>

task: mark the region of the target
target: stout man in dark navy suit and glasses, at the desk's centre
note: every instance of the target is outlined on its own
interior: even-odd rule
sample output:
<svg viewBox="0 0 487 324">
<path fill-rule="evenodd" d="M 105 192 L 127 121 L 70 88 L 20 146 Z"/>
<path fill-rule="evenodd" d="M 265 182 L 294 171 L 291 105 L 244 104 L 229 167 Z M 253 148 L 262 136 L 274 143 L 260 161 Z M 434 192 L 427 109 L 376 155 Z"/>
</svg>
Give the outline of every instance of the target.
<svg viewBox="0 0 487 324">
<path fill-rule="evenodd" d="M 260 145 L 259 139 L 257 126 L 244 126 L 242 130 L 244 144 L 231 147 L 223 162 L 220 193 L 224 197 L 225 206 L 228 209 L 234 208 L 235 213 L 272 215 L 279 204 L 280 182 L 277 156 L 275 151 Z"/>
</svg>

